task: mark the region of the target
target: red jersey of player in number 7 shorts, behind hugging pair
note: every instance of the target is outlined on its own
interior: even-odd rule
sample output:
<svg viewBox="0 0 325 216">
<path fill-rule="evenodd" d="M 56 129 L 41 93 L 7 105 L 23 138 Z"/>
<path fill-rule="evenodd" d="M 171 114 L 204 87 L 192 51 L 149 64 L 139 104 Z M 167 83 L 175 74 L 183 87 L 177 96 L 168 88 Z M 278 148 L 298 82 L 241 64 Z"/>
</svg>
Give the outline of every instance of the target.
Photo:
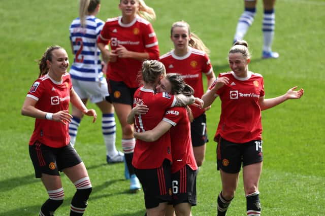
<svg viewBox="0 0 325 216">
<path fill-rule="evenodd" d="M 174 50 L 160 56 L 166 67 L 166 73 L 181 74 L 184 81 L 194 89 L 194 97 L 201 98 L 204 94 L 202 73 L 213 73 L 212 65 L 208 55 L 197 49 L 188 47 L 188 53 L 184 56 L 176 56 Z M 203 109 L 190 106 L 194 118 L 204 113 Z"/>
</svg>

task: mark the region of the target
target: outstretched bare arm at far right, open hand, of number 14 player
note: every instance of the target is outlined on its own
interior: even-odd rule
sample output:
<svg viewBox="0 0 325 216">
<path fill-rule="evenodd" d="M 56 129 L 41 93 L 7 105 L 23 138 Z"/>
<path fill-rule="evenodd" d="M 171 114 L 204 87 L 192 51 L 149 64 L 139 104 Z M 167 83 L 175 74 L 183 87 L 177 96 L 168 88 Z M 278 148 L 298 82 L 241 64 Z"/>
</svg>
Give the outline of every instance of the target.
<svg viewBox="0 0 325 216">
<path fill-rule="evenodd" d="M 276 106 L 288 99 L 299 99 L 303 96 L 304 94 L 304 89 L 300 89 L 298 91 L 295 91 L 298 87 L 295 86 L 293 88 L 290 88 L 285 94 L 274 97 L 274 98 L 269 98 L 269 99 L 264 99 L 264 97 L 260 97 L 258 100 L 259 106 L 261 107 L 261 110 L 267 110 L 272 108 L 273 106 Z"/>
</svg>

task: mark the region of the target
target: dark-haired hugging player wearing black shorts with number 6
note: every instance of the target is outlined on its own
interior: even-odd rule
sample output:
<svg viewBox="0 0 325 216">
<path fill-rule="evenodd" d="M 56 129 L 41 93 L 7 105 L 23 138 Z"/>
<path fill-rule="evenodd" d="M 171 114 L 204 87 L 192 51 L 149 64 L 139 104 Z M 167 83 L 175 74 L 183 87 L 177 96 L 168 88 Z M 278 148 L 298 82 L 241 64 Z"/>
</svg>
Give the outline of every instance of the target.
<svg viewBox="0 0 325 216">
<path fill-rule="evenodd" d="M 173 95 L 193 95 L 194 90 L 187 85 L 179 74 L 167 74 L 156 87 L 157 92 L 166 91 Z M 171 166 L 172 204 L 176 215 L 191 215 L 191 206 L 197 203 L 196 179 L 198 169 L 191 143 L 190 121 L 193 119 L 189 107 L 172 107 L 164 119 L 152 130 L 134 132 L 137 139 L 155 141 L 170 129 L 173 164 Z M 173 126 L 173 127 L 172 127 Z M 168 206 L 167 215 L 174 215 Z"/>
</svg>

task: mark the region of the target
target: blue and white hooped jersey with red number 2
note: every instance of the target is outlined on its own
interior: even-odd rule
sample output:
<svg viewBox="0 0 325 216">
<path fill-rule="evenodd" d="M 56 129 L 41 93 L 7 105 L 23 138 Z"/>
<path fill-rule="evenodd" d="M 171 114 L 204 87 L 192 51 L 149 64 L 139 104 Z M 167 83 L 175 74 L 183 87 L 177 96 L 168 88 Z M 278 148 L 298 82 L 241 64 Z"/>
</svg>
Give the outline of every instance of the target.
<svg viewBox="0 0 325 216">
<path fill-rule="evenodd" d="M 97 38 L 104 22 L 95 16 L 86 16 L 86 27 L 82 28 L 80 18 L 70 25 L 70 41 L 73 44 L 74 62 L 70 68 L 72 79 L 98 82 L 103 79 L 101 51 L 97 47 Z"/>
</svg>

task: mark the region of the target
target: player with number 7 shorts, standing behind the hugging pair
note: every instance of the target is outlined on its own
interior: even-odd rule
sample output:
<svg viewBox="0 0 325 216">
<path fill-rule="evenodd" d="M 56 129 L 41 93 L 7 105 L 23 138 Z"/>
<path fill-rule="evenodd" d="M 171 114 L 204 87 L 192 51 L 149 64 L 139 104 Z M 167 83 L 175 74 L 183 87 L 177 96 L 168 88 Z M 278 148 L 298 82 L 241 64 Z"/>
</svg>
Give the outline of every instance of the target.
<svg viewBox="0 0 325 216">
<path fill-rule="evenodd" d="M 204 93 L 202 74 L 207 76 L 207 86 L 215 81 L 215 75 L 207 55 L 209 49 L 201 39 L 190 32 L 190 26 L 185 21 L 178 21 L 172 25 L 171 40 L 174 49 L 163 56 L 159 61 L 166 67 L 166 73 L 181 74 L 184 81 L 194 89 L 195 97 L 202 97 Z M 208 141 L 207 120 L 205 110 L 190 106 L 194 120 L 191 122 L 191 139 L 194 156 L 198 166 L 201 166 Z"/>
</svg>

